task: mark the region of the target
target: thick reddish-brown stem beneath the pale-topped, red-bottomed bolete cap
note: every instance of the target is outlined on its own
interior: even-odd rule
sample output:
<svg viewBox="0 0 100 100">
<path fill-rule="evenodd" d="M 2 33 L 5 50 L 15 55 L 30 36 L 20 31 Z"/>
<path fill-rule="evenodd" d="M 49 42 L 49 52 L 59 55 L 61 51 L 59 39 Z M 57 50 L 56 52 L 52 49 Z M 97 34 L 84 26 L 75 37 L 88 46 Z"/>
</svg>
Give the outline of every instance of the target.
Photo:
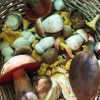
<svg viewBox="0 0 100 100">
<path fill-rule="evenodd" d="M 14 77 L 16 100 L 21 100 L 22 96 L 23 95 L 25 96 L 26 93 L 33 92 L 34 94 L 30 79 L 24 70 L 22 69 L 17 70 L 16 72 L 14 72 L 13 77 Z M 26 98 L 25 100 L 30 100 L 28 99 L 29 98 L 28 96 L 29 95 L 25 96 Z"/>
</svg>

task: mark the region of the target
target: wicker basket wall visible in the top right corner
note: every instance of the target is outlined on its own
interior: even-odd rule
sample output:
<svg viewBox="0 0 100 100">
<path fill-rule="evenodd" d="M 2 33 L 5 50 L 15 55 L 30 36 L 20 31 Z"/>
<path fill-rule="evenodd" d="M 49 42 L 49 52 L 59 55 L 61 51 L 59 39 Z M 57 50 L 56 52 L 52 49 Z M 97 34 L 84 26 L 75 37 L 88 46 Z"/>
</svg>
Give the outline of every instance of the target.
<svg viewBox="0 0 100 100">
<path fill-rule="evenodd" d="M 63 0 L 69 9 L 80 10 L 88 20 L 100 14 L 100 0 Z"/>
</svg>

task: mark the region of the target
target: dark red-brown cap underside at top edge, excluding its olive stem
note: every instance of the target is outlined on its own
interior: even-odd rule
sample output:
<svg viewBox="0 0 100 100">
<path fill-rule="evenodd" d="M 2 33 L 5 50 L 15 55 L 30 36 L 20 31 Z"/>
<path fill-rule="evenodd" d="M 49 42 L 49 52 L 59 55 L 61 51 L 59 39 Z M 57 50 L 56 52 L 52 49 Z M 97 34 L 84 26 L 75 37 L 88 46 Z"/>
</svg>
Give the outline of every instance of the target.
<svg viewBox="0 0 100 100">
<path fill-rule="evenodd" d="M 33 7 L 26 10 L 26 16 L 35 20 L 47 15 L 51 10 L 51 0 L 40 0 L 42 6 Z"/>
</svg>

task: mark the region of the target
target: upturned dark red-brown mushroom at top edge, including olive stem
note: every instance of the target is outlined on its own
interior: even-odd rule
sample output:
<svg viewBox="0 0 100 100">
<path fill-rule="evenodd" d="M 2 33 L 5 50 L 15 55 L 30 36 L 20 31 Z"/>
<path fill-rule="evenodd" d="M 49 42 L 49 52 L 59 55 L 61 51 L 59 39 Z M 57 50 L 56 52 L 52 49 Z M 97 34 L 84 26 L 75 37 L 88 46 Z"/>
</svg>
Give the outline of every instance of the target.
<svg viewBox="0 0 100 100">
<path fill-rule="evenodd" d="M 26 16 L 35 20 L 46 16 L 51 10 L 51 0 L 25 0 L 27 5 Z"/>
</svg>

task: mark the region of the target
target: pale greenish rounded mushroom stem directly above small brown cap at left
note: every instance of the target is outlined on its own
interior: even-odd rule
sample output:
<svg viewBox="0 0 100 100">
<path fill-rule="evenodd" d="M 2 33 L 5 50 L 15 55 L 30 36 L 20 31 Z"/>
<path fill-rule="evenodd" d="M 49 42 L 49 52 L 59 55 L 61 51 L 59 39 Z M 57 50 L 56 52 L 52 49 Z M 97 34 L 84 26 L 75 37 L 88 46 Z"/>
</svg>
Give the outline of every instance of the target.
<svg viewBox="0 0 100 100">
<path fill-rule="evenodd" d="M 13 47 L 16 49 L 21 46 L 30 46 L 30 42 L 23 37 L 17 38 L 13 43 Z"/>
</svg>

